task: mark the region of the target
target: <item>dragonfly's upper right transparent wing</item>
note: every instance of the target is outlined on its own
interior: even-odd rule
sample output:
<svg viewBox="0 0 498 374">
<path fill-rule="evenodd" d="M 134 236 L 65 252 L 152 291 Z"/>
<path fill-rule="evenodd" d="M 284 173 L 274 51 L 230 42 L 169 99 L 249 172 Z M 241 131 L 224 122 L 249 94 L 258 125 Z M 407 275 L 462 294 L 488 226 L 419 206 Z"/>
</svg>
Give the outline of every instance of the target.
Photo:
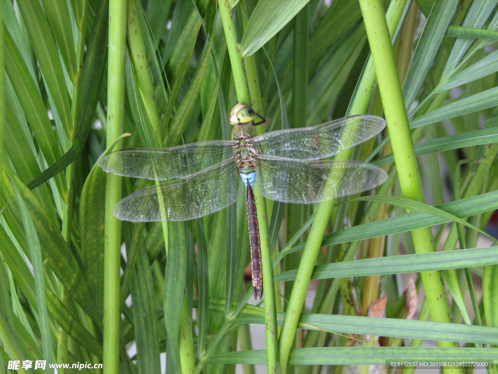
<svg viewBox="0 0 498 374">
<path fill-rule="evenodd" d="M 253 139 L 256 153 L 294 160 L 319 160 L 336 155 L 377 135 L 383 118 L 350 116 L 315 127 L 272 131 Z"/>
</svg>

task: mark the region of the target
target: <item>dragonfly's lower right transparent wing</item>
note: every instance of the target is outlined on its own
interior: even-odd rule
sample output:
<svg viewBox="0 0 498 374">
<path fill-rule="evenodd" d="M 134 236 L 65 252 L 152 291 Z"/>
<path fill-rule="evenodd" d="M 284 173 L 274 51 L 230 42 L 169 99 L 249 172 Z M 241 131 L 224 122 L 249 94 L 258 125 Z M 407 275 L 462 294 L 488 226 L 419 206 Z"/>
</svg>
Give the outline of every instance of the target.
<svg viewBox="0 0 498 374">
<path fill-rule="evenodd" d="M 387 179 L 383 169 L 359 161 L 265 157 L 257 160 L 256 168 L 256 188 L 264 197 L 297 204 L 311 204 L 367 191 Z"/>
</svg>

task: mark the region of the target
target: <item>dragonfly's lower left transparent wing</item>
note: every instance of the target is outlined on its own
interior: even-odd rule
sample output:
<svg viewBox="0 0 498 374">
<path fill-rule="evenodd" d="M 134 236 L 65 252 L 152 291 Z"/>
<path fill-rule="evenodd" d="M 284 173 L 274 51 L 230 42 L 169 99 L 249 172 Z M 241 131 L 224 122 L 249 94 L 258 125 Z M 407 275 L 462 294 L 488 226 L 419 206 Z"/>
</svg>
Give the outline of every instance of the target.
<svg viewBox="0 0 498 374">
<path fill-rule="evenodd" d="M 113 215 L 131 222 L 186 221 L 233 204 L 243 191 L 237 164 L 229 160 L 190 177 L 133 192 L 116 204 Z"/>
</svg>

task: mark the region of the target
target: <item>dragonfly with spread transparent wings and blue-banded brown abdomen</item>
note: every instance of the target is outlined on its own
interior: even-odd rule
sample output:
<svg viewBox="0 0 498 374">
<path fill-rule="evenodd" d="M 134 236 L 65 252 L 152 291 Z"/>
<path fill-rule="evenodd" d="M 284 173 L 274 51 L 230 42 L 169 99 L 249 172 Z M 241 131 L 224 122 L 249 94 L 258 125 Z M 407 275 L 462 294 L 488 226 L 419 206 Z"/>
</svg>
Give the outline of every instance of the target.
<svg viewBox="0 0 498 374">
<path fill-rule="evenodd" d="M 217 212 L 246 194 L 254 299 L 262 298 L 259 224 L 253 190 L 265 198 L 313 204 L 372 189 L 385 171 L 359 161 L 323 160 L 371 139 L 385 127 L 381 117 L 363 114 L 315 127 L 256 136 L 260 117 L 238 103 L 229 122 L 232 141 L 208 140 L 171 148 L 114 151 L 100 167 L 124 177 L 157 182 L 124 197 L 113 215 L 131 222 L 187 221 Z"/>
</svg>

